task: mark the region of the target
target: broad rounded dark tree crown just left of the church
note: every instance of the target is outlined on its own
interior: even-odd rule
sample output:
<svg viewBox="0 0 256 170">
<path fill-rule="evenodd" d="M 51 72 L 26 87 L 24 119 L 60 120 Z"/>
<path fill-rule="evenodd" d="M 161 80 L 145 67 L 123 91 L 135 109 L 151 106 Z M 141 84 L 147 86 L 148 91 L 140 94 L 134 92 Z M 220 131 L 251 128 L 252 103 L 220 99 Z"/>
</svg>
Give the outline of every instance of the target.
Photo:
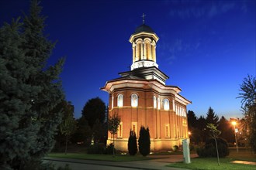
<svg viewBox="0 0 256 170">
<path fill-rule="evenodd" d="M 86 102 L 81 114 L 92 129 L 96 120 L 100 124 L 104 123 L 106 119 L 106 104 L 99 97 L 92 98 Z"/>
</svg>

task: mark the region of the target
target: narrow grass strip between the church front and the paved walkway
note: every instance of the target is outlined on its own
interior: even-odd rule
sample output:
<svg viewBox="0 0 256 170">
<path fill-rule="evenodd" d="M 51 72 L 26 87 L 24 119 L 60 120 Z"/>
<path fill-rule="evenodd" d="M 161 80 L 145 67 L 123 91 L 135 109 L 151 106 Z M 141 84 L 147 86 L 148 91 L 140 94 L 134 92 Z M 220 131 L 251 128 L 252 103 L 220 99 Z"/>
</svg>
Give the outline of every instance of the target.
<svg viewBox="0 0 256 170">
<path fill-rule="evenodd" d="M 149 160 L 150 158 L 144 157 L 141 155 L 94 155 L 94 154 L 84 154 L 84 153 L 50 153 L 48 157 L 52 158 L 76 158 L 76 159 L 87 159 L 87 160 L 99 160 L 99 161 L 108 161 L 108 162 L 132 162 L 132 161 L 142 161 Z"/>
</svg>

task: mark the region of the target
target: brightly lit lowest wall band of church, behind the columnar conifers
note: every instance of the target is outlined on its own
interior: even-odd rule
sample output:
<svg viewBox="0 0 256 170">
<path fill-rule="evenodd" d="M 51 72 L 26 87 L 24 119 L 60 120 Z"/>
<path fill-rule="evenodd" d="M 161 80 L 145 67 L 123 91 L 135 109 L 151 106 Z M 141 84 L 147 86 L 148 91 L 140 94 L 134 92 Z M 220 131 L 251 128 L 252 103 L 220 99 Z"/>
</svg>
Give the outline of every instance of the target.
<svg viewBox="0 0 256 170">
<path fill-rule="evenodd" d="M 171 151 L 172 147 L 182 146 L 182 140 L 185 138 L 164 138 L 150 139 L 150 151 Z M 107 140 L 107 145 L 113 142 L 112 138 Z M 128 151 L 128 138 L 115 138 L 115 148 L 117 151 Z"/>
</svg>

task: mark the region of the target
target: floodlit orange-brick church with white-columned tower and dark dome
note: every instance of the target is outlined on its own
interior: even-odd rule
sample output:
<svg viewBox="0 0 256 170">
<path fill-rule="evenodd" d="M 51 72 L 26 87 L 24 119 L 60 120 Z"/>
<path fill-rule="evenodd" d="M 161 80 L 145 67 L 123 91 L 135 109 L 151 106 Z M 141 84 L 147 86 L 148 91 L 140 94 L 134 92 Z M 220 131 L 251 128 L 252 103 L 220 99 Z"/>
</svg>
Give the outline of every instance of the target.
<svg viewBox="0 0 256 170">
<path fill-rule="evenodd" d="M 139 138 L 141 126 L 150 130 L 151 151 L 170 150 L 189 138 L 186 106 L 191 101 L 179 94 L 181 88 L 165 84 L 169 77 L 158 69 L 158 39 L 143 20 L 129 39 L 133 49 L 130 71 L 119 73 L 119 78 L 101 88 L 109 93 L 109 116 L 118 114 L 121 119 L 114 137 L 119 151 L 128 150 L 130 130 Z M 107 144 L 112 141 L 109 133 Z"/>
</svg>

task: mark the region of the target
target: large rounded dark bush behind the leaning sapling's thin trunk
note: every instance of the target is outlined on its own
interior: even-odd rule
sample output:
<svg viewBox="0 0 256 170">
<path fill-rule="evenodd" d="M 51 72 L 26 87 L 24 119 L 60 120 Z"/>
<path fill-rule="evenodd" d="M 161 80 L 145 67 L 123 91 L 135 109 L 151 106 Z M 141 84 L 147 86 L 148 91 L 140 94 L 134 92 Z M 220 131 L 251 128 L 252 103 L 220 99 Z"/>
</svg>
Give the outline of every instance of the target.
<svg viewBox="0 0 256 170">
<path fill-rule="evenodd" d="M 218 145 L 218 151 L 220 158 L 224 158 L 227 155 L 229 155 L 228 145 L 227 141 L 223 140 L 223 138 L 216 138 L 217 145 Z M 200 147 L 196 149 L 197 155 L 199 157 L 205 158 L 205 157 L 216 157 L 216 145 L 213 138 L 209 139 L 209 141 L 206 141 L 205 147 Z"/>
</svg>

